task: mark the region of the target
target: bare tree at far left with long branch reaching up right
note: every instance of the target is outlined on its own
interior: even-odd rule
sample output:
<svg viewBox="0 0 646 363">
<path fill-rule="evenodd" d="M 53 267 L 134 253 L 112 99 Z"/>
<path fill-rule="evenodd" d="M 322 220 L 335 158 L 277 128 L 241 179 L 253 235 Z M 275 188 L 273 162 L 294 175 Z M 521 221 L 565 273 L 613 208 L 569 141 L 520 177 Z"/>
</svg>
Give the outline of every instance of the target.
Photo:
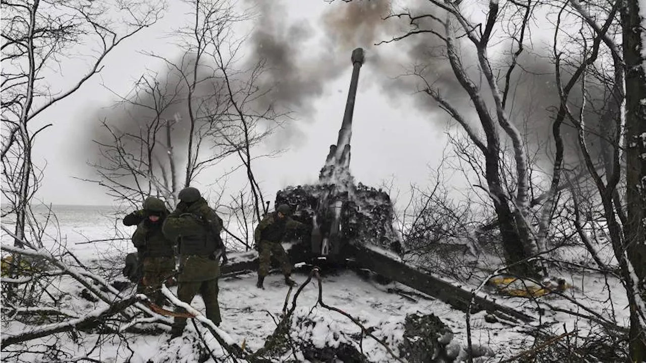
<svg viewBox="0 0 646 363">
<path fill-rule="evenodd" d="M 16 212 L 16 245 L 25 236 L 28 205 L 36 187 L 32 148 L 37 134 L 50 124 L 30 127 L 61 99 L 74 94 L 100 72 L 104 59 L 120 43 L 154 24 L 162 2 L 126 1 L 79 5 L 75 1 L 16 0 L 0 3 L 0 121 L 8 132 L 0 147 L 5 168 L 5 195 Z M 112 21 L 110 13 L 120 21 Z M 52 69 L 72 47 L 90 44 L 90 67 L 67 88 L 57 90 Z M 92 47 L 94 44 L 96 47 Z M 14 159 L 6 160 L 13 154 Z"/>
</svg>

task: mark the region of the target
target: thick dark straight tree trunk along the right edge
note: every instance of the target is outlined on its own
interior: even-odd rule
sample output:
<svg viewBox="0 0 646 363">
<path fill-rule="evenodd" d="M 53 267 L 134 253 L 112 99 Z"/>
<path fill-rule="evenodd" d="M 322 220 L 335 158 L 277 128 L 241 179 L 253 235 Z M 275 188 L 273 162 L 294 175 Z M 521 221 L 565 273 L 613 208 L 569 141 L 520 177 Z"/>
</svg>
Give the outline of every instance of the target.
<svg viewBox="0 0 646 363">
<path fill-rule="evenodd" d="M 640 1 L 625 0 L 621 8 L 623 23 L 623 57 L 626 65 L 626 206 L 625 242 L 629 259 L 642 287 L 646 277 L 645 213 L 646 209 L 646 75 L 641 56 L 644 44 L 641 34 Z M 642 289 L 638 293 L 645 298 Z M 630 307 L 630 357 L 634 362 L 646 360 L 643 327 L 637 311 Z M 644 312 L 641 312 L 644 313 Z"/>
</svg>

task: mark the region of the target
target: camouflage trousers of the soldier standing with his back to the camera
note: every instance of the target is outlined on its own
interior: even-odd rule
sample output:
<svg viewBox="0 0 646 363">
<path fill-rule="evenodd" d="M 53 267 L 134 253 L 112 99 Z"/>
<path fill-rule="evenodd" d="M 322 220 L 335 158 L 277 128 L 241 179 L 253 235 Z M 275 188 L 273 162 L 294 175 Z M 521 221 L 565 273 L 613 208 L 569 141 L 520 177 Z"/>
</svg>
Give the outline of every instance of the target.
<svg viewBox="0 0 646 363">
<path fill-rule="evenodd" d="M 206 317 L 211 320 L 216 326 L 220 326 L 222 316 L 220 316 L 220 304 L 218 304 L 218 278 L 207 281 L 185 281 L 179 282 L 177 285 L 177 298 L 187 304 L 191 304 L 195 295 L 200 293 L 204 306 L 206 307 Z M 178 307 L 178 313 L 185 313 L 183 307 Z M 176 316 L 172 323 L 172 331 L 181 333 L 186 326 L 186 318 Z"/>
</svg>

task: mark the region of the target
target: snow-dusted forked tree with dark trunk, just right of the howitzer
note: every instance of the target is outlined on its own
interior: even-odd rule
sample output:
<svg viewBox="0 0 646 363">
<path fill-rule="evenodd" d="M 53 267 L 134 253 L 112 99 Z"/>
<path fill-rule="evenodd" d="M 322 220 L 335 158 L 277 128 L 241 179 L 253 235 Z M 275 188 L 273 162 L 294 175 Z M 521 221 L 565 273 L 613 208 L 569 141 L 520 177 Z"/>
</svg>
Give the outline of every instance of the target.
<svg viewBox="0 0 646 363">
<path fill-rule="evenodd" d="M 494 204 L 495 214 L 501 234 L 505 257 L 512 273 L 524 276 L 539 275 L 539 268 L 532 263 L 517 263 L 528 260 L 539 253 L 536 234 L 531 230 L 528 157 L 526 155 L 525 141 L 516 122 L 508 110 L 510 100 L 511 75 L 516 71 L 517 58 L 525 47 L 526 34 L 528 33 L 528 20 L 532 15 L 534 3 L 505 3 L 519 14 L 517 19 L 506 19 L 509 23 L 516 21 L 517 26 L 510 34 L 514 39 L 515 52 L 512 52 L 510 65 L 506 69 L 494 68 L 488 54 L 492 46 L 492 32 L 501 21 L 502 6 L 497 1 L 488 5 L 486 23 L 477 25 L 474 21 L 464 16 L 459 2 L 430 1 L 435 11 L 432 12 L 404 12 L 393 14 L 390 19 L 406 19 L 411 30 L 401 36 L 394 37 L 391 41 L 402 41 L 413 36 L 437 37 L 442 47 L 443 54 L 450 64 L 453 76 L 466 91 L 478 116 L 479 123 L 474 125 L 468 121 L 458 107 L 453 105 L 443 94 L 442 90 L 435 87 L 433 79 L 427 79 L 421 73 L 422 92 L 428 94 L 437 105 L 448 113 L 452 119 L 462 127 L 472 143 L 484 157 L 486 191 Z M 467 71 L 468 65 L 462 56 L 462 44 L 459 37 L 466 37 L 469 50 L 476 57 L 480 77 L 485 81 L 485 87 Z M 505 74 L 499 79 L 497 74 Z M 499 132 L 502 129 L 502 134 Z M 509 195 L 505 190 L 505 180 L 501 171 L 501 158 L 503 156 L 503 142 L 510 140 L 514 158 L 514 171 L 516 174 L 515 195 Z M 543 271 L 542 273 L 545 273 Z"/>
</svg>

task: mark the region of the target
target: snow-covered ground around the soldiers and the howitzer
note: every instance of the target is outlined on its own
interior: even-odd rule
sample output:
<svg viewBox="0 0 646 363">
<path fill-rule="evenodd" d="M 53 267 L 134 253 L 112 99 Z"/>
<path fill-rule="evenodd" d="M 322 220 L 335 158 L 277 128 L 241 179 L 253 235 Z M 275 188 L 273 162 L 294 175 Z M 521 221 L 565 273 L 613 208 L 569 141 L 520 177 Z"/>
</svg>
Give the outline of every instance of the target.
<svg viewBox="0 0 646 363">
<path fill-rule="evenodd" d="M 129 240 L 87 243 L 88 240 L 110 239 L 117 235 L 114 231 L 116 219 L 109 216 L 109 210 L 66 211 L 63 214 L 65 215 L 59 216 L 60 236 L 57 233 L 50 233 L 51 236 L 57 236 L 56 242 L 51 238 L 45 238 L 45 244 L 52 247 L 62 238 L 67 248 L 76 254 L 83 264 L 91 267 L 92 271 L 99 275 L 125 280 L 120 276 L 120 269 L 124 254 L 134 251 Z M 120 229 L 121 233 L 117 235 L 118 237 L 125 236 L 127 238 L 132 232 L 123 227 Z M 3 235 L 0 242 L 7 244 L 12 240 Z M 298 284 L 304 282 L 306 277 L 302 274 L 294 276 Z M 526 335 L 526 332 L 537 324 L 552 324 L 555 333 L 559 333 L 563 329 L 566 331 L 574 328 L 579 331 L 590 329 L 587 320 L 575 315 L 576 313 L 587 314 L 585 309 L 599 313 L 601 319 L 612 321 L 612 316 L 614 316 L 618 325 L 627 326 L 628 311 L 625 293 L 617 280 L 606 281 L 594 273 L 588 273 L 585 277 L 579 274 L 564 277 L 567 278 L 568 284 L 573 285 L 573 288 L 565 293 L 568 298 L 562 296 L 543 298 L 543 301 L 550 304 L 551 307 L 563 311 L 551 311 L 549 306 L 541 304 L 541 307 L 547 308 L 547 311 L 545 315 L 539 316 L 538 306 L 535 302 L 528 302 L 524 298 L 494 296 L 497 302 L 518 307 L 526 313 L 536 316 L 538 318 L 536 324 L 530 326 L 530 324 L 508 324 L 500 321 L 490 323 L 485 321 L 486 313 L 484 311 L 471 316 L 472 344 L 489 347 L 495 355 L 494 357 L 484 357 L 481 361 L 495 362 L 501 358 L 511 357 L 523 349 L 528 349 L 533 338 Z M 268 276 L 264 290 L 256 288 L 255 282 L 255 273 L 222 278 L 219 295 L 223 318 L 220 329 L 229 335 L 238 346 L 244 345 L 252 351 L 262 347 L 267 336 L 275 330 L 288 291 L 280 274 Z M 54 297 L 61 298 L 63 301 L 61 308 L 72 312 L 70 313 L 72 316 L 86 316 L 96 309 L 105 307 L 103 302 L 91 302 L 81 297 L 82 289 L 83 287 L 78 282 L 71 278 L 63 278 L 59 281 L 56 289 L 52 289 L 52 293 Z M 172 287 L 171 291 L 174 293 L 176 287 Z M 401 291 L 404 293 L 402 294 Z M 407 291 L 408 293 L 406 293 Z M 373 328 L 373 334 L 390 344 L 395 353 L 398 352 L 397 345 L 398 342 L 401 342 L 404 333 L 404 318 L 415 312 L 433 313 L 439 316 L 444 324 L 453 331 L 452 344 L 466 346 L 466 316 L 462 311 L 452 309 L 444 302 L 434 298 L 410 292 L 410 289 L 401 284 L 377 284 L 373 280 L 363 278 L 351 271 L 324 275 L 322 278 L 323 301 L 329 306 L 338 307 L 354 316 L 364 327 Z M 134 287 L 130 286 L 121 295 L 127 296 L 132 293 L 134 293 Z M 293 294 L 294 291 L 289 296 L 288 308 L 291 307 Z M 610 300 L 609 297 L 612 299 Z M 308 316 L 317 324 L 314 327 L 293 324 L 291 333 L 293 338 L 306 338 L 315 346 L 338 346 L 340 342 L 348 340 L 351 335 L 360 333 L 360 327 L 346 316 L 317 305 L 317 298 L 318 284 L 313 280 L 304 287 L 298 297 L 294 320 L 298 320 L 298 316 Z M 573 304 L 572 300 L 581 302 L 581 305 Z M 193 300 L 193 307 L 202 313 L 204 312 L 200 297 Z M 572 311 L 575 314 L 567 311 Z M 139 325 L 141 328 L 147 326 L 151 327 L 151 324 Z M 26 347 L 29 347 L 30 353 L 19 357 L 12 356 L 8 351 L 0 352 L 0 361 L 72 361 L 85 355 L 101 362 L 198 361 L 196 349 L 193 346 L 196 342 L 200 342 L 200 334 L 204 335 L 203 328 L 200 328 L 200 334 L 198 334 L 193 324 L 189 323 L 183 338 L 169 341 L 168 327 L 160 324 L 157 324 L 156 327 L 161 327 L 166 332 L 158 335 L 141 332 L 124 332 L 121 335 L 81 333 L 80 336 L 61 333 L 57 335 L 59 343 L 56 347 L 59 351 L 67 352 L 67 357 L 43 355 L 41 352 L 47 351 L 48 346 L 56 342 L 56 339 L 52 337 L 45 337 L 27 342 Z M 7 327 L 1 329 L 0 340 L 30 329 L 33 327 L 24 322 L 12 320 Z M 203 338 L 207 343 L 213 344 L 212 346 L 218 346 L 213 341 L 213 337 L 209 337 L 208 334 Z M 364 338 L 361 346 L 364 354 L 372 362 L 395 361 L 395 358 L 384 347 L 371 338 Z M 16 346 L 10 348 L 12 347 Z M 216 356 L 221 353 L 214 351 Z M 300 357 L 300 360 L 302 359 Z"/>
</svg>

